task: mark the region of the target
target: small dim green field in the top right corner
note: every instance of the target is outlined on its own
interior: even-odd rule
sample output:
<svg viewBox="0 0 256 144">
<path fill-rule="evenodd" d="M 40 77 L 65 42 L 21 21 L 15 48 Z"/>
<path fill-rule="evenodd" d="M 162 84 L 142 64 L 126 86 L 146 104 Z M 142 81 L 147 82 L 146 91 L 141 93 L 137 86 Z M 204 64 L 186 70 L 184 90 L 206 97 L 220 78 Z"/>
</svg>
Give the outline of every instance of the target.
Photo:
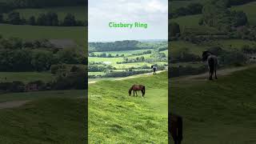
<svg viewBox="0 0 256 144">
<path fill-rule="evenodd" d="M 250 25 L 256 26 L 256 2 L 250 2 L 245 5 L 241 6 L 233 6 L 231 7 L 231 10 L 242 10 L 246 13 L 248 20 L 250 22 Z"/>
</svg>

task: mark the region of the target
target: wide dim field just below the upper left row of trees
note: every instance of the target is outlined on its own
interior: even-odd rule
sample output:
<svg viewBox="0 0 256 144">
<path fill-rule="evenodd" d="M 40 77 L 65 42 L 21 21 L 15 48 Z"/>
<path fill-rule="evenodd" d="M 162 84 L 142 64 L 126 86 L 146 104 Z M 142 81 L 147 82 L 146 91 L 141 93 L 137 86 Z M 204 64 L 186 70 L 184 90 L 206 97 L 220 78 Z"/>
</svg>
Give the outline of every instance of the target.
<svg viewBox="0 0 256 144">
<path fill-rule="evenodd" d="M 70 38 L 86 40 L 86 27 L 60 27 L 60 26 L 21 26 L 0 24 L 0 34 L 3 37 L 18 37 L 23 39 L 40 38 Z"/>
</svg>

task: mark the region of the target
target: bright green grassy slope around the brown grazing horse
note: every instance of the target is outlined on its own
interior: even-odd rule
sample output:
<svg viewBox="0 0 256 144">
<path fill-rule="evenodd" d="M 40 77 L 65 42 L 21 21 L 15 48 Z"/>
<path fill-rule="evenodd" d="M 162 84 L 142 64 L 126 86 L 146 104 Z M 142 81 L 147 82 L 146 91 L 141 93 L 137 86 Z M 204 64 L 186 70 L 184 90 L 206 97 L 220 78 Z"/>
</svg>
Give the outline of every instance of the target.
<svg viewBox="0 0 256 144">
<path fill-rule="evenodd" d="M 134 83 L 146 86 L 146 98 L 129 97 Z M 102 81 L 89 87 L 91 143 L 166 143 L 167 73 Z"/>
</svg>

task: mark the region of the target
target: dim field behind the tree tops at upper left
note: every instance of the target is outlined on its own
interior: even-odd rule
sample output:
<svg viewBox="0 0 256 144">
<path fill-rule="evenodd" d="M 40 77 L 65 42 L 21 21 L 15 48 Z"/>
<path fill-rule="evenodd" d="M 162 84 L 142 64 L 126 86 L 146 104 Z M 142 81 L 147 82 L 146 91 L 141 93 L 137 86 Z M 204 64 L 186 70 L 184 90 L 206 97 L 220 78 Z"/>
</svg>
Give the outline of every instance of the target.
<svg viewBox="0 0 256 144">
<path fill-rule="evenodd" d="M 63 21 L 66 14 L 74 14 L 75 18 L 78 20 L 85 21 L 87 18 L 86 7 L 85 6 L 63 6 L 63 7 L 50 7 L 42 9 L 21 9 L 18 11 L 22 17 L 28 19 L 30 16 L 38 18 L 39 14 L 46 14 L 47 12 L 55 12 L 58 14 L 58 20 Z"/>
</svg>

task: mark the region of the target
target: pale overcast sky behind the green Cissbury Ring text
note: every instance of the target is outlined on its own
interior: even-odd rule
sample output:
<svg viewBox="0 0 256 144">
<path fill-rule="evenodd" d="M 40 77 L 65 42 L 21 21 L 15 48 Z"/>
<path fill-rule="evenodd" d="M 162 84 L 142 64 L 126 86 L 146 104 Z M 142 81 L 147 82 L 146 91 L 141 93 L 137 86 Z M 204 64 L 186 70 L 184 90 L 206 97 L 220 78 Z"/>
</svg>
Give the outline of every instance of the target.
<svg viewBox="0 0 256 144">
<path fill-rule="evenodd" d="M 89 0 L 89 42 L 167 39 L 167 0 Z M 146 22 L 143 28 L 110 28 L 109 22 Z"/>
</svg>

